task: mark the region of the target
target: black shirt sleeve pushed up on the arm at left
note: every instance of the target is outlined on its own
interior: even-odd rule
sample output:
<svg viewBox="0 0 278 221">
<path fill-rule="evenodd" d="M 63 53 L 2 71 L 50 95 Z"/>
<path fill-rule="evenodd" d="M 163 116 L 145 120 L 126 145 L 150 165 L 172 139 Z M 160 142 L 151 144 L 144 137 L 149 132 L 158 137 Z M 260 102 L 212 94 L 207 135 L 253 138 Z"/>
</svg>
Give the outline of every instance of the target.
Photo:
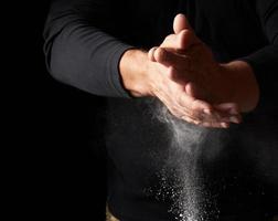
<svg viewBox="0 0 278 221">
<path fill-rule="evenodd" d="M 44 53 L 51 75 L 82 91 L 129 97 L 119 61 L 131 49 L 114 34 L 110 0 L 56 0 L 44 28 Z"/>
</svg>

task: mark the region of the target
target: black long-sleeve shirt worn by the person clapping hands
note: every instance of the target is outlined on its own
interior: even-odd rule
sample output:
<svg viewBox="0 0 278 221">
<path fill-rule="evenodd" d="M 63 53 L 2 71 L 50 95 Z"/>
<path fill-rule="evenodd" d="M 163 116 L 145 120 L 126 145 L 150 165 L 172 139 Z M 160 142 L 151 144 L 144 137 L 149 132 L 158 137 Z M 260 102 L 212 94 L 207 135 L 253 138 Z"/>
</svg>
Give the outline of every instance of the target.
<svg viewBox="0 0 278 221">
<path fill-rule="evenodd" d="M 227 180 L 240 177 L 240 188 L 235 188 L 238 202 L 245 199 L 252 181 L 267 177 L 271 190 L 274 179 L 277 181 L 277 0 L 56 0 L 44 32 L 46 64 L 58 81 L 107 97 L 108 202 L 122 220 L 171 219 L 167 212 L 169 204 L 143 191 L 158 181 L 151 177 L 164 164 L 171 143 L 167 126 L 153 118 L 152 99 L 129 97 L 121 85 L 118 64 L 130 48 L 159 45 L 172 32 L 172 20 L 179 12 L 186 14 L 196 35 L 212 49 L 217 61 L 248 62 L 260 86 L 257 109 L 240 126 L 221 131 L 229 136 L 229 143 L 223 145 L 229 155 L 212 164 L 210 172 Z M 153 155 L 160 156 L 156 164 Z M 247 179 L 250 173 L 256 179 Z M 233 191 L 232 187 L 223 190 L 223 196 Z M 250 200 L 256 202 L 243 207 L 223 199 L 234 207 L 227 213 L 253 211 L 263 203 L 256 198 L 259 202 Z"/>
</svg>

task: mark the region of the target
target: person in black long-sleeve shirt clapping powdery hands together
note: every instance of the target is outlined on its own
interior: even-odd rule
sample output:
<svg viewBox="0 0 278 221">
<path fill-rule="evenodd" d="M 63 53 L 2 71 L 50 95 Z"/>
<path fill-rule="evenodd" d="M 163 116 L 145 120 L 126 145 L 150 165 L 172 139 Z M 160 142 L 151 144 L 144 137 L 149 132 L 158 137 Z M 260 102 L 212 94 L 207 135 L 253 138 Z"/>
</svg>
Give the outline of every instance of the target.
<svg viewBox="0 0 278 221">
<path fill-rule="evenodd" d="M 107 201 L 115 217 L 175 219 L 171 200 L 145 191 L 161 182 L 156 175 L 171 143 L 165 125 L 150 114 L 151 97 L 184 124 L 229 136 L 222 147 L 225 156 L 205 168 L 211 180 L 231 183 L 217 197 L 221 219 L 274 215 L 274 199 L 258 192 L 264 187 L 274 197 L 276 177 L 257 172 L 253 159 L 259 159 L 263 146 L 277 154 L 277 33 L 275 0 L 53 2 L 44 32 L 50 73 L 107 97 Z M 264 171 L 275 173 L 275 161 L 268 162 Z"/>
</svg>

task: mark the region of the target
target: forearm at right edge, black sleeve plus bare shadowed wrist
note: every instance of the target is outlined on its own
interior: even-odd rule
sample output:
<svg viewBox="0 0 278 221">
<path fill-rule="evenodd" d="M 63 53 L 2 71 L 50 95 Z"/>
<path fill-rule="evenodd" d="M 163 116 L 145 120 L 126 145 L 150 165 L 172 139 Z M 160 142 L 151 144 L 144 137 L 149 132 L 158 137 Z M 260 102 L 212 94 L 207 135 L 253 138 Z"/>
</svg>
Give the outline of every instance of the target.
<svg viewBox="0 0 278 221">
<path fill-rule="evenodd" d="M 267 101 L 271 104 L 277 103 L 277 97 L 274 95 L 278 73 L 278 2 L 277 0 L 256 0 L 255 2 L 256 13 L 268 45 L 242 57 L 243 62 L 231 63 L 232 70 L 235 69 L 237 73 L 234 80 L 239 83 L 235 85 L 235 99 L 240 102 L 243 110 L 252 110 L 256 105 L 261 108 Z"/>
</svg>

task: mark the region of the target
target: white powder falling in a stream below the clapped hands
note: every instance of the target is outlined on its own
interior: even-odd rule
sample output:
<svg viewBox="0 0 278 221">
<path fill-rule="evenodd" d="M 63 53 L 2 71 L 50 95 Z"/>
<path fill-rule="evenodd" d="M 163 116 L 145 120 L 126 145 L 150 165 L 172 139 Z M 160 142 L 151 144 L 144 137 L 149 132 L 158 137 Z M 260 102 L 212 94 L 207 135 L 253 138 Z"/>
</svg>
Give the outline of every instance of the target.
<svg viewBox="0 0 278 221">
<path fill-rule="evenodd" d="M 209 129 L 173 117 L 163 106 L 158 112 L 158 118 L 168 125 L 172 143 L 165 169 L 161 172 L 164 178 L 159 196 L 172 198 L 170 212 L 174 213 L 178 221 L 205 221 L 209 214 L 205 208 L 210 200 L 200 176 L 199 159 Z M 169 168 L 172 171 L 165 171 Z M 168 176 L 174 179 L 171 186 L 165 181 Z"/>
</svg>

